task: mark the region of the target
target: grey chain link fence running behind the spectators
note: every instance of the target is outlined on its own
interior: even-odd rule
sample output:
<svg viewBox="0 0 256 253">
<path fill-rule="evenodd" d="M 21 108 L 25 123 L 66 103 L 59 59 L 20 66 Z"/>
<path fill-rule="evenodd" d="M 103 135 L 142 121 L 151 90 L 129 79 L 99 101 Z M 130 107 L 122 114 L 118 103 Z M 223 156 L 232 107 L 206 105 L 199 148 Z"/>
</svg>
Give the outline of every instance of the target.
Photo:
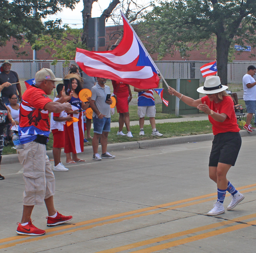
<svg viewBox="0 0 256 253">
<path fill-rule="evenodd" d="M 0 60 L 3 62 L 4 60 Z M 58 78 L 64 78 L 69 73 L 69 66 L 65 66 L 65 61 L 57 61 L 56 65 L 51 65 L 52 61 L 41 60 L 9 60 L 12 63 L 11 70 L 18 73 L 22 92 L 26 90 L 24 81 L 35 77 L 35 73 L 41 68 L 50 68 Z M 70 62 L 72 64 L 75 62 Z M 199 79 L 200 85 L 203 85 L 204 78 L 202 77 L 200 67 L 207 63 L 206 61 L 155 61 L 158 69 L 165 79 Z M 243 61 L 228 63 L 228 86 L 229 90 L 236 92 L 239 98 L 243 97 L 243 75 L 247 72 L 249 65 L 256 65 L 256 61 Z M 111 90 L 113 87 L 111 81 L 107 82 Z M 162 87 L 162 85 L 160 85 Z M 133 99 L 131 105 L 137 105 L 138 93 L 133 91 Z M 50 95 L 53 99 L 56 96 L 56 91 Z M 161 104 L 162 100 L 155 93 L 156 104 Z"/>
</svg>

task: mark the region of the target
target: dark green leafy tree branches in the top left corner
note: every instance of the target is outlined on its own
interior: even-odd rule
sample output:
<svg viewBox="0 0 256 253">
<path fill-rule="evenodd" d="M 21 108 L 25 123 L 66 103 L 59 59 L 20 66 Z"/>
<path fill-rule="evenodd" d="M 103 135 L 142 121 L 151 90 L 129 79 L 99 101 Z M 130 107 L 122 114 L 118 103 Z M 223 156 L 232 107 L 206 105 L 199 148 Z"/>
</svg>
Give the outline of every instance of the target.
<svg viewBox="0 0 256 253">
<path fill-rule="evenodd" d="M 33 44 L 38 35 L 60 31 L 61 20 L 42 21 L 47 15 L 55 14 L 63 7 L 74 9 L 79 0 L 2 0 L 0 1 L 0 46 L 15 39 L 16 44 L 26 40 Z"/>
</svg>

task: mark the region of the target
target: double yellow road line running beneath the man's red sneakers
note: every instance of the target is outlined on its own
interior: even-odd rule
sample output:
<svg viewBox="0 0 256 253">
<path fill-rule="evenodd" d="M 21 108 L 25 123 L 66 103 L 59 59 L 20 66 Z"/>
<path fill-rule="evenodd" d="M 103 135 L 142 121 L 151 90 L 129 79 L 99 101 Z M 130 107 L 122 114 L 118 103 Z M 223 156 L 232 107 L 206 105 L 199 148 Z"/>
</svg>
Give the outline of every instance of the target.
<svg viewBox="0 0 256 253">
<path fill-rule="evenodd" d="M 250 189 L 241 191 L 241 192 L 244 193 L 244 192 L 256 190 L 256 188 L 251 188 L 253 186 L 256 186 L 256 184 L 239 187 L 237 189 L 240 190 L 240 189 L 250 188 Z M 51 229 L 46 230 L 46 232 L 47 233 L 57 232 L 57 231 L 61 231 L 61 230 L 70 229 L 71 227 L 73 228 L 74 226 L 76 228 L 71 229 L 71 230 L 62 231 L 62 232 L 59 232 L 59 233 L 53 233 L 53 234 L 50 234 L 50 235 L 44 235 L 44 236 L 40 236 L 40 237 L 36 237 L 36 238 L 31 238 L 30 236 L 15 236 L 15 237 L 0 239 L 0 243 L 6 243 L 6 242 L 9 242 L 9 241 L 19 240 L 19 239 L 23 239 L 23 238 L 29 238 L 29 239 L 25 239 L 25 240 L 20 240 L 18 242 L 2 245 L 2 246 L 0 246 L 0 249 L 1 248 L 6 248 L 6 247 L 11 247 L 11 246 L 14 246 L 16 244 L 20 244 L 20 243 L 24 243 L 24 242 L 28 242 L 28 241 L 37 241 L 37 240 L 45 239 L 45 238 L 56 236 L 56 235 L 63 235 L 63 234 L 66 234 L 66 233 L 72 233 L 72 232 L 76 232 L 76 231 L 80 231 L 80 230 L 88 230 L 88 229 L 92 229 L 95 226 L 117 223 L 117 222 L 120 222 L 120 221 L 123 221 L 123 220 L 129 220 L 129 219 L 133 219 L 133 218 L 137 218 L 137 217 L 142 217 L 142 216 L 147 216 L 147 215 L 152 215 L 152 214 L 156 214 L 156 213 L 165 212 L 165 211 L 168 211 L 168 210 L 174 210 L 174 209 L 177 209 L 177 208 L 197 205 L 197 204 L 204 203 L 204 202 L 215 199 L 215 197 L 214 198 L 207 198 L 207 197 L 210 197 L 210 196 L 216 196 L 216 193 L 210 193 L 210 194 L 206 194 L 206 195 L 202 195 L 202 196 L 187 198 L 187 199 L 183 199 L 183 200 L 174 201 L 174 202 L 171 202 L 171 203 L 158 205 L 158 206 L 155 206 L 155 207 L 148 207 L 148 208 L 143 208 L 143 209 L 134 210 L 134 211 L 130 211 L 130 212 L 125 212 L 125 213 L 105 216 L 105 217 L 101 217 L 101 218 L 97 218 L 97 219 L 82 221 L 82 222 L 74 223 L 72 225 L 53 227 Z M 206 198 L 206 199 L 203 199 L 203 200 L 200 200 L 200 201 L 194 201 L 194 200 L 197 200 L 197 199 L 200 199 L 200 198 L 201 199 Z M 186 203 L 186 202 L 189 202 L 189 201 L 194 201 L 194 202 L 179 205 L 179 206 L 175 206 L 175 207 L 172 207 L 172 208 L 171 207 L 166 208 L 168 206 L 173 206 L 173 205 L 177 205 L 177 204 L 181 204 L 181 203 Z M 157 210 L 157 211 L 153 211 L 153 212 L 142 213 L 142 212 L 154 210 L 156 208 L 157 209 L 161 208 L 161 209 Z M 162 209 L 162 208 L 165 208 L 165 209 Z M 132 214 L 136 214 L 136 213 L 137 213 L 137 215 L 132 215 Z M 142 213 L 142 214 L 138 214 L 138 213 Z M 105 221 L 105 222 L 101 222 L 101 223 L 96 223 L 96 224 L 92 224 L 92 225 L 89 225 L 89 226 L 86 226 L 86 227 L 78 227 L 78 226 L 87 225 L 87 224 L 100 222 L 100 221 L 104 221 L 104 220 L 115 219 L 115 218 L 122 217 L 122 216 L 127 216 L 127 215 L 132 215 L 132 216 L 123 217 L 123 218 L 116 219 L 116 220 L 111 220 L 111 221 Z"/>
</svg>

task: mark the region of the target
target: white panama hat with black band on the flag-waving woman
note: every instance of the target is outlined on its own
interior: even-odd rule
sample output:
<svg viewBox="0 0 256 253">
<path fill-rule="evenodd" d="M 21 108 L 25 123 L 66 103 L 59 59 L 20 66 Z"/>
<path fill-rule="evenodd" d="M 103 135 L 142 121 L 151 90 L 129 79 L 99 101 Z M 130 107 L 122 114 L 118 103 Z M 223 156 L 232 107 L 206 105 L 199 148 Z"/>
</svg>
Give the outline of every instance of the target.
<svg viewBox="0 0 256 253">
<path fill-rule="evenodd" d="M 226 90 L 227 88 L 228 86 L 221 85 L 220 77 L 216 75 L 208 75 L 205 79 L 204 86 L 199 87 L 197 91 L 203 94 L 215 94 Z"/>
</svg>

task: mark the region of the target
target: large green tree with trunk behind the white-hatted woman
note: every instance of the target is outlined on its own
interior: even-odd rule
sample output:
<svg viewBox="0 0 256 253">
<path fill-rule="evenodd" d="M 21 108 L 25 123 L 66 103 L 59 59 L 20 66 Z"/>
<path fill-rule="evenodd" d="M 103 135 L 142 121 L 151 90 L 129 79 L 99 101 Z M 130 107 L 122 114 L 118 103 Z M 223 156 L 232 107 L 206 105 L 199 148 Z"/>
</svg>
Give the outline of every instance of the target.
<svg viewBox="0 0 256 253">
<path fill-rule="evenodd" d="M 218 75 L 227 83 L 228 53 L 234 44 L 256 45 L 255 0 L 159 1 L 141 25 L 150 35 L 147 46 L 162 57 L 216 39 Z"/>
</svg>

